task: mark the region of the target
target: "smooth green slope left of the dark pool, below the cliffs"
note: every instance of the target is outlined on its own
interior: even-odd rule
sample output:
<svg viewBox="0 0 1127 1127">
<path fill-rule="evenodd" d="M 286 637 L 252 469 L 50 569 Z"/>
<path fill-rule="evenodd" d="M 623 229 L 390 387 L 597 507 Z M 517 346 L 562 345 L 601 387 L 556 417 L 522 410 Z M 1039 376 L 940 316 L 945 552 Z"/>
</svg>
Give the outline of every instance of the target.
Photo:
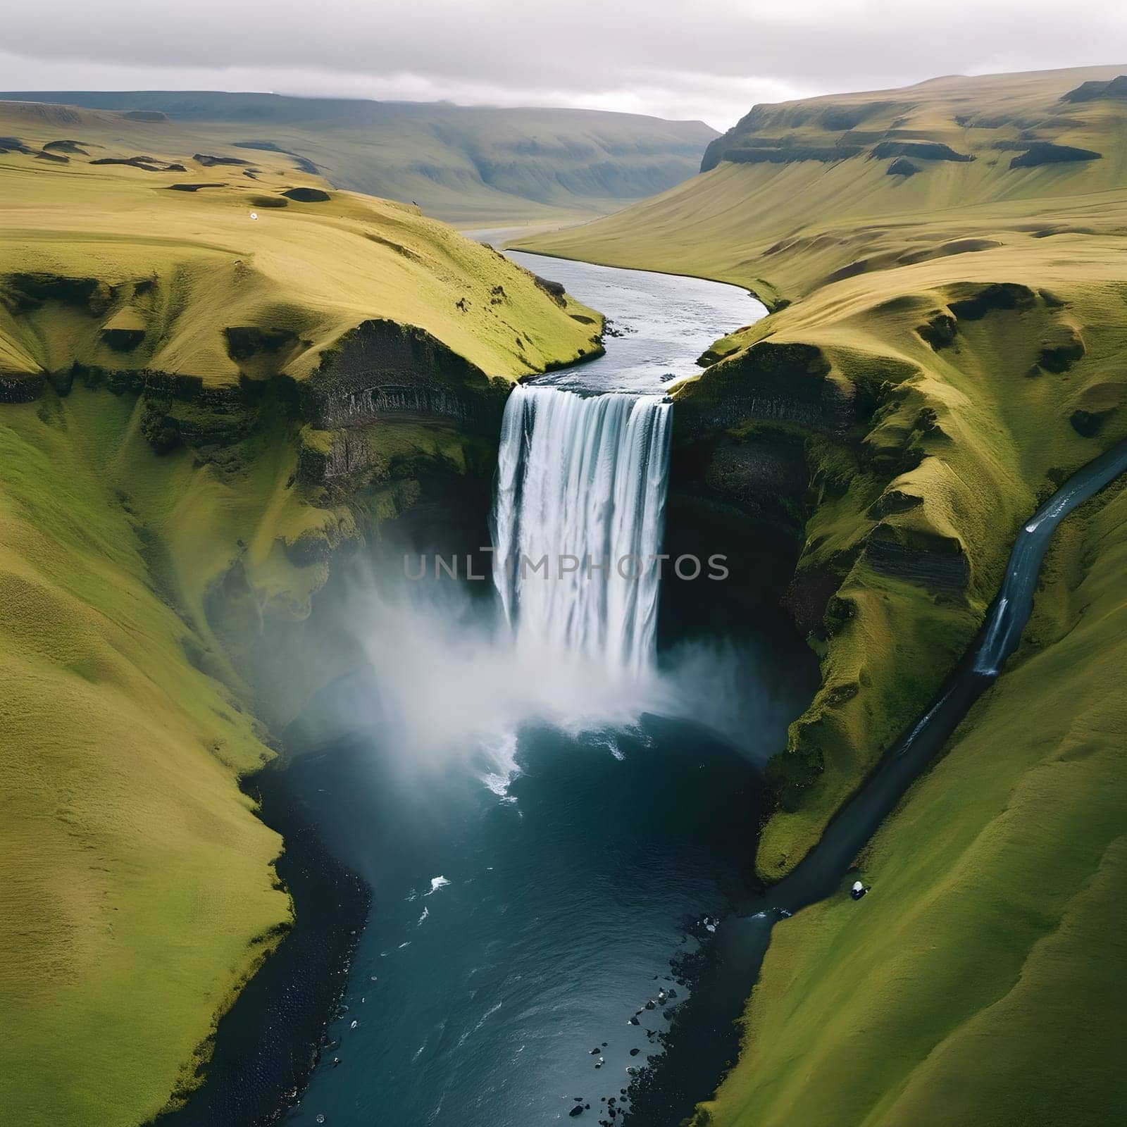
<svg viewBox="0 0 1127 1127">
<path fill-rule="evenodd" d="M 188 533 L 174 511 L 204 539 L 183 491 L 215 483 L 137 416 L 109 392 L 0 408 L 0 1099 L 29 1124 L 154 1115 L 290 917 L 281 842 L 237 787 L 270 752 L 150 566 L 158 526 Z"/>
</svg>

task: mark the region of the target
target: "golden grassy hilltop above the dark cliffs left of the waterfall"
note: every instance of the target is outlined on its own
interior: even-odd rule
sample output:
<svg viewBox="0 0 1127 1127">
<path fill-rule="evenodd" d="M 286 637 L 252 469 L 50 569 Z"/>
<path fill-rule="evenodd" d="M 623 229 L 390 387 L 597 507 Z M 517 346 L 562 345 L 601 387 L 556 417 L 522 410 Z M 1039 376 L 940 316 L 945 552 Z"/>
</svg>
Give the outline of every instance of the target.
<svg viewBox="0 0 1127 1127">
<path fill-rule="evenodd" d="M 79 362 L 301 380 L 374 318 L 508 379 L 591 347 L 531 275 L 410 205 L 326 190 L 282 154 L 186 157 L 160 122 L 55 106 L 0 103 L 0 131 L 5 376 Z"/>
</svg>

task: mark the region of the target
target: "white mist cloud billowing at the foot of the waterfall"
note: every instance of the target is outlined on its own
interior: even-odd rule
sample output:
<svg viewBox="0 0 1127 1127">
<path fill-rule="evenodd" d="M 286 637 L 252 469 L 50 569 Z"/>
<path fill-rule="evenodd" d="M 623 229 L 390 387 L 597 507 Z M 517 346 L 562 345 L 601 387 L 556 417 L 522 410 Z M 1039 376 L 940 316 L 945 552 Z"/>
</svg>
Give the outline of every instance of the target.
<svg viewBox="0 0 1127 1127">
<path fill-rule="evenodd" d="M 504 795 L 521 730 L 536 725 L 613 747 L 646 715 L 691 720 L 760 762 L 786 738 L 793 706 L 753 641 L 684 641 L 635 668 L 515 632 L 499 600 L 460 583 L 379 571 L 357 577 L 353 609 L 366 667 L 344 715 L 405 774 L 462 762 Z"/>
</svg>

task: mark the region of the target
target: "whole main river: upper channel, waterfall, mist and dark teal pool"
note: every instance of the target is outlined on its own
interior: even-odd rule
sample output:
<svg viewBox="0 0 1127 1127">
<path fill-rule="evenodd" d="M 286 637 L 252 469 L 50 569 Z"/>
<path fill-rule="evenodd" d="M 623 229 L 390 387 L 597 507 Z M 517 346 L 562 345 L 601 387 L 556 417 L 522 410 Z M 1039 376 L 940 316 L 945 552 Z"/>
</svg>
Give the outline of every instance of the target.
<svg viewBox="0 0 1127 1127">
<path fill-rule="evenodd" d="M 611 331 L 604 357 L 511 398 L 498 550 L 659 551 L 668 384 L 764 310 L 716 283 L 513 257 Z M 758 764 L 810 671 L 754 638 L 659 658 L 651 577 L 498 588 L 492 629 L 437 583 L 358 605 L 372 671 L 318 708 L 354 730 L 307 737 L 290 767 L 373 906 L 286 1122 L 613 1122 L 747 902 Z"/>
</svg>

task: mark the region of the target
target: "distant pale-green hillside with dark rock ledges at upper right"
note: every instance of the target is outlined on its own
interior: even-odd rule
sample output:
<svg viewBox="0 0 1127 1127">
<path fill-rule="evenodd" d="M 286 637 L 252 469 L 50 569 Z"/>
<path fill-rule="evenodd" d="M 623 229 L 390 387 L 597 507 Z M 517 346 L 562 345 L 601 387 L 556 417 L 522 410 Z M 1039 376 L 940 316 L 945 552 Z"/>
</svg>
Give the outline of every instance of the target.
<svg viewBox="0 0 1127 1127">
<path fill-rule="evenodd" d="M 521 246 L 734 282 L 771 305 L 809 293 L 835 269 L 881 269 L 905 251 L 996 238 L 994 228 L 1003 240 L 1013 227 L 1084 233 L 1089 218 L 1099 221 L 1108 203 L 1103 193 L 1121 199 L 1127 110 L 1115 98 L 1065 98 L 1086 80 L 1125 71 L 1127 65 L 946 78 L 757 106 L 715 142 L 711 159 L 762 147 L 771 160 L 722 160 L 653 199 Z M 1011 167 L 1037 142 L 1100 159 Z M 974 159 L 911 156 L 905 159 L 916 171 L 900 176 L 890 174 L 898 150 L 878 154 L 882 145 L 921 143 Z M 964 245 L 961 252 L 974 249 Z"/>
</svg>

